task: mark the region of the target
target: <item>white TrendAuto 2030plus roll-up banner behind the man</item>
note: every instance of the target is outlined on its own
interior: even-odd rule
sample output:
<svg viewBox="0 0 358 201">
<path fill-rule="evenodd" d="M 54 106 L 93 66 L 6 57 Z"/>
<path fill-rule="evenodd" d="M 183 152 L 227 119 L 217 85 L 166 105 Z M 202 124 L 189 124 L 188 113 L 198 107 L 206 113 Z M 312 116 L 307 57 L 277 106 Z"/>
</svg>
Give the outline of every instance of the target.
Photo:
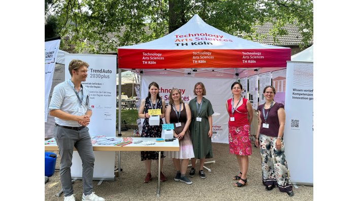
<svg viewBox="0 0 358 201">
<path fill-rule="evenodd" d="M 65 69 L 72 59 L 89 64 L 86 82 L 92 107 L 91 122 L 88 125 L 91 136 L 116 136 L 116 56 L 92 54 L 66 54 Z M 71 78 L 66 70 L 65 79 Z M 94 151 L 94 180 L 114 180 L 114 151 Z M 82 177 L 82 162 L 77 151 L 73 153 L 71 176 Z"/>
</svg>

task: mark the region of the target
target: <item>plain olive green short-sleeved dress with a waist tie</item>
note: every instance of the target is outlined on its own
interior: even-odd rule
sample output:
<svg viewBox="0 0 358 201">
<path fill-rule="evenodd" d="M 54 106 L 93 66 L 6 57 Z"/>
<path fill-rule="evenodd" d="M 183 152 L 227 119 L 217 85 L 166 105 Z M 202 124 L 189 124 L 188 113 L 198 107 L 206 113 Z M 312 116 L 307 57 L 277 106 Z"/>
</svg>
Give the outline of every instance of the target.
<svg viewBox="0 0 358 201">
<path fill-rule="evenodd" d="M 189 127 L 191 142 L 196 158 L 212 158 L 211 137 L 208 137 L 210 128 L 208 116 L 211 116 L 214 110 L 210 101 L 205 97 L 203 97 L 201 104 L 200 112 L 198 112 L 197 97 L 189 102 L 191 111 L 191 123 Z M 202 121 L 198 122 L 197 117 L 201 117 Z"/>
</svg>

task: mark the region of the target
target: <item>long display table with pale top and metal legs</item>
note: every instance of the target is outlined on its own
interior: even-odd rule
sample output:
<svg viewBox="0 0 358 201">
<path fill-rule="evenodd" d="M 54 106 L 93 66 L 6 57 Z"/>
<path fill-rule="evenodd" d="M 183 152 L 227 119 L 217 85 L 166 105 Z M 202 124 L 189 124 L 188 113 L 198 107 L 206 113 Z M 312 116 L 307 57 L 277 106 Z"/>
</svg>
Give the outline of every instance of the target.
<svg viewBox="0 0 358 201">
<path fill-rule="evenodd" d="M 122 137 L 107 137 L 114 140 L 123 140 Z M 157 138 L 137 138 L 133 137 L 133 141 L 142 140 L 143 142 L 155 142 Z M 53 139 L 50 139 L 50 141 Z M 47 141 L 47 140 L 46 140 Z M 46 142 L 45 141 L 45 142 Z M 175 139 L 172 142 L 155 142 L 152 145 L 143 145 L 142 143 L 131 143 L 124 146 L 116 146 L 113 144 L 98 144 L 96 142 L 93 146 L 93 151 L 118 151 L 118 170 L 120 170 L 120 151 L 158 151 L 159 155 L 161 151 L 179 151 L 179 141 Z M 74 150 L 76 150 L 74 148 Z M 45 151 L 58 151 L 57 144 L 45 144 Z M 158 164 L 160 164 L 160 157 L 158 159 Z M 120 172 L 120 171 L 119 171 Z M 157 187 L 157 197 L 160 196 L 160 166 L 158 166 L 158 187 Z"/>
</svg>

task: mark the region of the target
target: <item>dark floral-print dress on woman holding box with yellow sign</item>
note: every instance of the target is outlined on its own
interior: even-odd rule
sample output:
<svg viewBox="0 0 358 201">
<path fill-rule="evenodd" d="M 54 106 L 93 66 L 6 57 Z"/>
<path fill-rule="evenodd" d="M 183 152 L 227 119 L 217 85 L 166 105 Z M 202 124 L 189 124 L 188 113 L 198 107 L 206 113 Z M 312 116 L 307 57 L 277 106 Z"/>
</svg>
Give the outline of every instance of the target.
<svg viewBox="0 0 358 201">
<path fill-rule="evenodd" d="M 162 99 L 160 98 L 156 104 L 152 104 L 152 107 L 150 106 L 150 100 L 147 97 L 145 99 L 145 105 L 144 105 L 144 113 L 148 113 L 148 109 L 161 109 L 162 108 Z M 143 138 L 160 138 L 161 137 L 161 125 L 163 124 L 163 120 L 160 119 L 159 126 L 149 126 L 149 118 L 145 118 L 143 122 L 143 129 L 142 129 L 142 135 Z M 158 152 L 156 151 L 141 151 L 141 160 L 157 160 L 158 159 Z M 163 158 L 164 151 L 161 152 L 160 158 Z"/>
</svg>

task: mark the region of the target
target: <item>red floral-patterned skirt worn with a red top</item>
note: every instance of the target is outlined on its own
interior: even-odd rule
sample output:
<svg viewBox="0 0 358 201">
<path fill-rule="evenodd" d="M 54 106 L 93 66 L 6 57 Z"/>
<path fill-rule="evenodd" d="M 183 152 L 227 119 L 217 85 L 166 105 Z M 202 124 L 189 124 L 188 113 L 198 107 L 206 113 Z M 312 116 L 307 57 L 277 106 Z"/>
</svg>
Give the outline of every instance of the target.
<svg viewBox="0 0 358 201">
<path fill-rule="evenodd" d="M 250 125 L 229 126 L 230 153 L 236 155 L 251 155 Z"/>
</svg>

